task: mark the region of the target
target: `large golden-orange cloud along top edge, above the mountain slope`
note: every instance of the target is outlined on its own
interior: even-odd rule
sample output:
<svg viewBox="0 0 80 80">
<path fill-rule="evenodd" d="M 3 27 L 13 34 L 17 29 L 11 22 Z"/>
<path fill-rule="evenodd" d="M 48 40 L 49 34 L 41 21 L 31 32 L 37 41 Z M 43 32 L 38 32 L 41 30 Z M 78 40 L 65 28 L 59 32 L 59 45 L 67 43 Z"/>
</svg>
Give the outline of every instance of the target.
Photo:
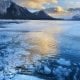
<svg viewBox="0 0 80 80">
<path fill-rule="evenodd" d="M 44 4 L 57 3 L 57 0 L 13 0 L 18 2 L 22 6 L 28 8 L 42 9 L 45 8 Z"/>
</svg>

